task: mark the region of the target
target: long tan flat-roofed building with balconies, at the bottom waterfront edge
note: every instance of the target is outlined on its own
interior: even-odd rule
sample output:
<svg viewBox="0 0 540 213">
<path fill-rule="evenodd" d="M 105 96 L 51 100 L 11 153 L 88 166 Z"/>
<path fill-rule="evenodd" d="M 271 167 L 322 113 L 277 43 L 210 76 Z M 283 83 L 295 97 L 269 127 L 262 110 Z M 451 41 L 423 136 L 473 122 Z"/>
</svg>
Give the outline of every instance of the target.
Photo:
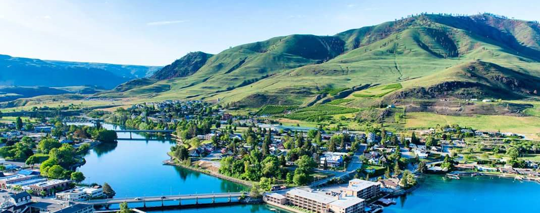
<svg viewBox="0 0 540 213">
<path fill-rule="evenodd" d="M 322 192 L 312 192 L 292 189 L 286 193 L 287 203 L 316 213 L 362 213 L 365 200 L 353 196 L 328 195 Z"/>
</svg>

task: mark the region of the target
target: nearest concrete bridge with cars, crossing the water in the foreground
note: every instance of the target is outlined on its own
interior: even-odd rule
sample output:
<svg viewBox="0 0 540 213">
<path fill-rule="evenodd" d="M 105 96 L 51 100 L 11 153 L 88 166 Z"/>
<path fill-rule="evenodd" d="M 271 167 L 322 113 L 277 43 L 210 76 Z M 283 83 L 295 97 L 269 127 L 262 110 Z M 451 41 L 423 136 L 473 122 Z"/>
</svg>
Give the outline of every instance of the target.
<svg viewBox="0 0 540 213">
<path fill-rule="evenodd" d="M 190 195 L 169 195 L 169 196 L 145 196 L 145 197 L 125 197 L 125 198 L 110 198 L 110 199 L 98 199 L 90 201 L 82 201 L 76 203 L 84 203 L 89 205 L 109 205 L 119 203 L 143 203 L 146 207 L 146 202 L 161 202 L 161 206 L 164 206 L 165 201 L 178 201 L 178 205 L 182 205 L 182 201 L 195 200 L 195 205 L 199 204 L 200 199 L 212 199 L 212 203 L 215 203 L 215 198 L 228 198 L 228 203 L 232 202 L 233 198 L 239 198 L 244 193 L 212 193 L 212 194 L 190 194 Z"/>
</svg>

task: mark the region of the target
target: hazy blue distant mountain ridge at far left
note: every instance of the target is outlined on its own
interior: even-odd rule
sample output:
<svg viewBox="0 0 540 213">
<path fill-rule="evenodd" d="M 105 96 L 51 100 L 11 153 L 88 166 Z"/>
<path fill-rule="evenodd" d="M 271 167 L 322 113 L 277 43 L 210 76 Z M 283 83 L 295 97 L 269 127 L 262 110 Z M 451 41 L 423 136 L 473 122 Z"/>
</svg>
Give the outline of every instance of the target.
<svg viewBox="0 0 540 213">
<path fill-rule="evenodd" d="M 69 87 L 92 85 L 114 88 L 160 67 L 49 61 L 0 55 L 0 86 Z"/>
</svg>

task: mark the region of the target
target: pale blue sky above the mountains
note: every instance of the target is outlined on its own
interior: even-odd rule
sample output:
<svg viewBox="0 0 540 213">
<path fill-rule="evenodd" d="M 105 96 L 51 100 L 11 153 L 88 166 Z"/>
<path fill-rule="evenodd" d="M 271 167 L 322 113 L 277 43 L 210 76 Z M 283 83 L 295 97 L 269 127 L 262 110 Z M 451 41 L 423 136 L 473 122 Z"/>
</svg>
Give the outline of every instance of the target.
<svg viewBox="0 0 540 213">
<path fill-rule="evenodd" d="M 0 54 L 166 65 L 288 34 L 333 35 L 420 12 L 540 20 L 536 1 L 0 1 Z"/>
</svg>

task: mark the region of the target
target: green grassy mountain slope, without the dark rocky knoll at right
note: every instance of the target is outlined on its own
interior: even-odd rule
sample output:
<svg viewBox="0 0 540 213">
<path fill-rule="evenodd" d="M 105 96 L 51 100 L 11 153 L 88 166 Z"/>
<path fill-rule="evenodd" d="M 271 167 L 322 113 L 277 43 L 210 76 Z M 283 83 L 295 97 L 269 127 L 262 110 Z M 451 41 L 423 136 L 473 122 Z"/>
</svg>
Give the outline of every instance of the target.
<svg viewBox="0 0 540 213">
<path fill-rule="evenodd" d="M 453 80 L 449 68 L 478 59 L 539 76 L 539 40 L 538 25 L 521 20 L 426 15 L 334 37 L 292 35 L 240 45 L 212 56 L 192 76 L 116 97 L 236 102 L 262 93 L 294 96 L 301 104 L 328 87 L 402 82 L 404 90 Z"/>
</svg>

